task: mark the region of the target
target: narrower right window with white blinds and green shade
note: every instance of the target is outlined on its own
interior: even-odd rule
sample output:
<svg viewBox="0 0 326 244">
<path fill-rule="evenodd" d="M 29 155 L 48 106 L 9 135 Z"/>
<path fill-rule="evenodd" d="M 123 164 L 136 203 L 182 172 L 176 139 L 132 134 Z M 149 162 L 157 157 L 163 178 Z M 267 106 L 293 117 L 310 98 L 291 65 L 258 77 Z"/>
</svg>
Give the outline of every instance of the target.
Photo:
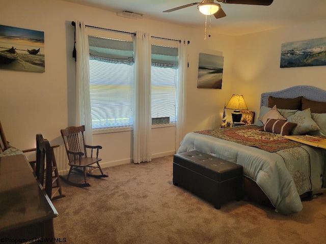
<svg viewBox="0 0 326 244">
<path fill-rule="evenodd" d="M 178 49 L 152 45 L 151 66 L 152 118 L 170 117 L 175 123 Z"/>
</svg>

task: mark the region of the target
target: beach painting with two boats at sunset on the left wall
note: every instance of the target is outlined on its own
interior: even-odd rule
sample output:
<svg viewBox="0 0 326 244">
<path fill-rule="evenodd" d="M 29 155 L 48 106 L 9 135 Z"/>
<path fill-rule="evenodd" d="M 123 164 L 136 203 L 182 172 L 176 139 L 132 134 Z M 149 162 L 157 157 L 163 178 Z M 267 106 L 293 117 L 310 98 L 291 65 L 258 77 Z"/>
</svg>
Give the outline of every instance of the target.
<svg viewBox="0 0 326 244">
<path fill-rule="evenodd" d="M 0 69 L 45 72 L 44 32 L 0 25 Z"/>
</svg>

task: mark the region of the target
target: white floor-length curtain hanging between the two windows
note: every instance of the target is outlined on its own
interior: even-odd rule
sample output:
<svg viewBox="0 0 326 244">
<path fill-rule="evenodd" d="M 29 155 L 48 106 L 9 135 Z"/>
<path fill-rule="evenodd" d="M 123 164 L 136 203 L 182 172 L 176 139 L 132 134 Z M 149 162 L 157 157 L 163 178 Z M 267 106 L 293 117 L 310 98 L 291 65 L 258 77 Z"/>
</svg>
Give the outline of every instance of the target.
<svg viewBox="0 0 326 244">
<path fill-rule="evenodd" d="M 136 32 L 134 43 L 133 163 L 151 161 L 150 35 Z"/>
</svg>

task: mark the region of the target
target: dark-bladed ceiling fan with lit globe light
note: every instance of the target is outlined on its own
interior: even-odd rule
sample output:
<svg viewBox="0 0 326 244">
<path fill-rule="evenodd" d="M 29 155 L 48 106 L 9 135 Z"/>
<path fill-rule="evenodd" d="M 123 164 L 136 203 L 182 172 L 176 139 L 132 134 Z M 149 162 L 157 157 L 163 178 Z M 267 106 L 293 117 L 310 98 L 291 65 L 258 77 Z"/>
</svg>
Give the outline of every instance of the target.
<svg viewBox="0 0 326 244">
<path fill-rule="evenodd" d="M 223 3 L 223 4 L 250 4 L 250 5 L 264 5 L 264 6 L 271 5 L 273 1 L 274 0 L 216 0 L 216 2 Z M 226 13 L 222 10 L 221 5 L 214 3 L 214 0 L 203 0 L 200 3 L 186 4 L 173 9 L 165 10 L 163 12 L 169 13 L 179 9 L 191 7 L 193 5 L 197 5 L 198 10 L 205 15 L 213 14 L 216 19 L 223 18 L 226 16 Z"/>
</svg>

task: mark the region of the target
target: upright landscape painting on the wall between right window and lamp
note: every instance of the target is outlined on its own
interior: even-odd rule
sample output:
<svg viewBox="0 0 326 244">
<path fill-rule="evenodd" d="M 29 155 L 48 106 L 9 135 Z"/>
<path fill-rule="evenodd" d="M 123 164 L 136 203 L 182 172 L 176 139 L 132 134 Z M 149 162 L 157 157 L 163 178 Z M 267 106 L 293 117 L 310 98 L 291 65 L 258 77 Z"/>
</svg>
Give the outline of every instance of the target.
<svg viewBox="0 0 326 244">
<path fill-rule="evenodd" d="M 224 57 L 199 53 L 197 88 L 222 89 Z"/>
</svg>

